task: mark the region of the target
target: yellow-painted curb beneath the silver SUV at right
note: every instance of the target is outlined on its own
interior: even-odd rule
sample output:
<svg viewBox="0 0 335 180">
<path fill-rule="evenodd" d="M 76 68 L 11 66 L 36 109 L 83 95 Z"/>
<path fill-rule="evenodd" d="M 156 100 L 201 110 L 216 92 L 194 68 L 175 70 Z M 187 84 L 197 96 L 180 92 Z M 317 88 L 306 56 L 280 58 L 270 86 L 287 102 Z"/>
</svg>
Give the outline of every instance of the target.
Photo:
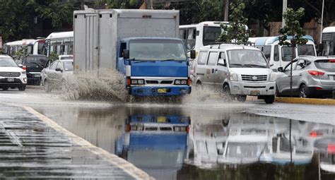
<svg viewBox="0 0 335 180">
<path fill-rule="evenodd" d="M 295 104 L 335 105 L 335 100 L 300 98 L 300 97 L 276 97 L 276 102 L 286 102 L 286 103 L 295 103 Z"/>
</svg>

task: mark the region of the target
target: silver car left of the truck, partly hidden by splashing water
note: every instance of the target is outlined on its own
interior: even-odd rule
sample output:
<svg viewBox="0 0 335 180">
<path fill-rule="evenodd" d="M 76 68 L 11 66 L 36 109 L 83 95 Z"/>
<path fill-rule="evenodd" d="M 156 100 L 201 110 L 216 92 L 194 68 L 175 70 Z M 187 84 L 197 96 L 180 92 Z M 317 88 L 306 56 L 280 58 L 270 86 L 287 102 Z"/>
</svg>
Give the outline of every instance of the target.
<svg viewBox="0 0 335 180">
<path fill-rule="evenodd" d="M 61 89 L 66 80 L 66 76 L 74 71 L 74 60 L 57 60 L 50 66 L 42 70 L 42 85 L 45 86 L 46 92 L 52 89 Z"/>
</svg>

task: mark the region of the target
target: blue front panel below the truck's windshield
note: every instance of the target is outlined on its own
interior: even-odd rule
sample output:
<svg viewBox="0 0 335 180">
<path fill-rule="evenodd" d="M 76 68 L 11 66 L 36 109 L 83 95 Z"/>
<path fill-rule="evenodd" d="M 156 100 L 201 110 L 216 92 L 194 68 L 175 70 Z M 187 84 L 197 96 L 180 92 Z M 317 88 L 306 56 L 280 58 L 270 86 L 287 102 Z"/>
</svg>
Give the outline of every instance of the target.
<svg viewBox="0 0 335 180">
<path fill-rule="evenodd" d="M 186 61 L 145 61 L 131 64 L 131 76 L 146 77 L 187 77 Z"/>
</svg>

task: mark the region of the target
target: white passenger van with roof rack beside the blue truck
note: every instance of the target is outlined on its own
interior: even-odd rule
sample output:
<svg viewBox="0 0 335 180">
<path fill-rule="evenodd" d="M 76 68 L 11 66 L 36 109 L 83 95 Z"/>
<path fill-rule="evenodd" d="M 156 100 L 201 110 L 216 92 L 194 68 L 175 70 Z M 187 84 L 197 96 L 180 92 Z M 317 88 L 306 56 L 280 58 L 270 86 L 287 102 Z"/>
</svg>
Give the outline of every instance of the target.
<svg viewBox="0 0 335 180">
<path fill-rule="evenodd" d="M 221 90 L 228 100 L 247 95 L 274 102 L 275 74 L 261 50 L 244 45 L 218 44 L 202 47 L 195 65 L 196 85 Z"/>
</svg>

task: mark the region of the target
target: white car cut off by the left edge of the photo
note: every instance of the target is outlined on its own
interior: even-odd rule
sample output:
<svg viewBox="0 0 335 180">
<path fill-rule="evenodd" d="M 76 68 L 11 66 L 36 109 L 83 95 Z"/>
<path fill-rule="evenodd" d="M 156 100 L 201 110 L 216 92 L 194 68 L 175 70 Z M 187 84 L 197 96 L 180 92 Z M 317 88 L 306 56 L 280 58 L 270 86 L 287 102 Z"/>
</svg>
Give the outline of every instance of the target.
<svg viewBox="0 0 335 180">
<path fill-rule="evenodd" d="M 23 91 L 25 85 L 27 85 L 25 70 L 20 68 L 11 56 L 0 55 L 0 88 L 2 90 L 18 88 Z"/>
</svg>

